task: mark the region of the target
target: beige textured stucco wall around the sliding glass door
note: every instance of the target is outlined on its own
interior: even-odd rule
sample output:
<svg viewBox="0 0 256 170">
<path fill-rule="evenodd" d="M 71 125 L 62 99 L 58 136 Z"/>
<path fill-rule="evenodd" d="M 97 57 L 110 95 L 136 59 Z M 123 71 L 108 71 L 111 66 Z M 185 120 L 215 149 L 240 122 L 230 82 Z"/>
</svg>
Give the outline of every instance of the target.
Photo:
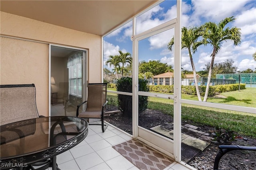
<svg viewBox="0 0 256 170">
<path fill-rule="evenodd" d="M 0 13 L 1 35 L 88 49 L 89 82 L 101 82 L 101 37 Z M 38 112 L 48 116 L 49 47 L 47 44 L 1 37 L 0 84 L 35 83 Z"/>
</svg>

